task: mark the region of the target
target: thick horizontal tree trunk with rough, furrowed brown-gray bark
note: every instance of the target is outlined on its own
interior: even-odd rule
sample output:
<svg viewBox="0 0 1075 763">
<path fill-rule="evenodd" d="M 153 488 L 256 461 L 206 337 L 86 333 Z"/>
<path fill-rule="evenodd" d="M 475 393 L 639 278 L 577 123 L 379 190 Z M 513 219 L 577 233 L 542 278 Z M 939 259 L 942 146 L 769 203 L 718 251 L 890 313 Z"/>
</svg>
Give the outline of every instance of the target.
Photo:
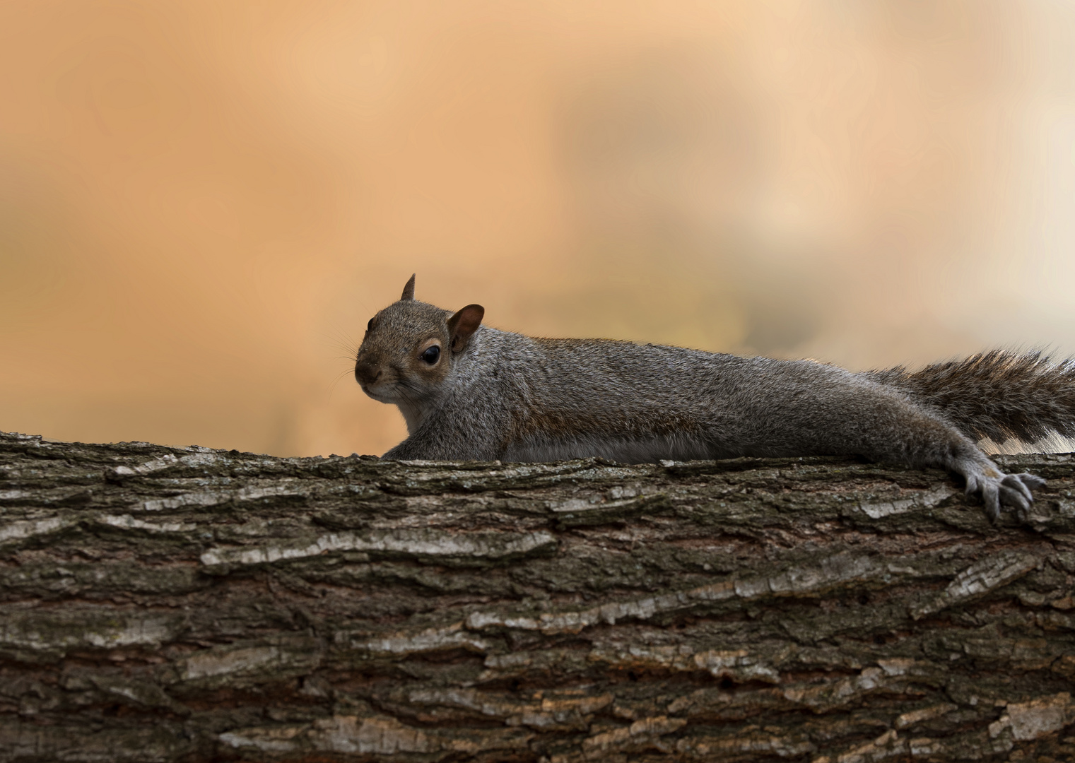
<svg viewBox="0 0 1075 763">
<path fill-rule="evenodd" d="M 1075 759 L 1075 461 L 0 435 L 0 761 Z"/>
</svg>

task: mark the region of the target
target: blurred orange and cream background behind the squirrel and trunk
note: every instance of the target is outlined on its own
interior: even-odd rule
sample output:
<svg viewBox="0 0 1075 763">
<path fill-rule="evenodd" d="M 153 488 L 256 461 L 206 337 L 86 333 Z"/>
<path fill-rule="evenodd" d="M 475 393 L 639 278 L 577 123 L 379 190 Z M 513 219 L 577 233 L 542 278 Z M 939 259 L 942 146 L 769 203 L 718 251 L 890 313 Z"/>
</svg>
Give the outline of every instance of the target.
<svg viewBox="0 0 1075 763">
<path fill-rule="evenodd" d="M 1075 351 L 1075 6 L 0 4 L 0 430 L 379 454 L 492 326 L 849 368 Z"/>
</svg>

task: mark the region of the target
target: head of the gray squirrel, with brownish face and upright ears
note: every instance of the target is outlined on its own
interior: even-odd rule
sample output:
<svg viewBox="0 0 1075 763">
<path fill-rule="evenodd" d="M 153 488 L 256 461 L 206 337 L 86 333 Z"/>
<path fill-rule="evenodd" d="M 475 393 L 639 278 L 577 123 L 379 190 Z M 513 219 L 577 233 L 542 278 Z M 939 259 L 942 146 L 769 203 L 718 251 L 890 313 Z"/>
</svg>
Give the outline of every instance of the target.
<svg viewBox="0 0 1075 763">
<path fill-rule="evenodd" d="M 362 391 L 383 403 L 435 395 L 485 316 L 482 305 L 453 314 L 414 299 L 414 276 L 398 302 L 370 318 L 355 358 Z"/>
</svg>

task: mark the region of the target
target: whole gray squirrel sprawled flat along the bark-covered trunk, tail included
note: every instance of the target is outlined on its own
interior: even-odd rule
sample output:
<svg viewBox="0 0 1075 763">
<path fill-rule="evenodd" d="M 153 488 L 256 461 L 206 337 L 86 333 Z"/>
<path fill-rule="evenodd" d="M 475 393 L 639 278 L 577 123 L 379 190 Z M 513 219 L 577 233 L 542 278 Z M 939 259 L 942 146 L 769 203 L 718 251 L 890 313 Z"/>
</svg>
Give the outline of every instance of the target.
<svg viewBox="0 0 1075 763">
<path fill-rule="evenodd" d="M 1045 480 L 1004 474 L 975 444 L 1075 435 L 1075 363 L 994 350 L 911 373 L 741 358 L 614 340 L 538 339 L 414 299 L 367 326 L 355 378 L 398 405 L 395 460 L 628 463 L 862 456 L 961 475 L 997 520 Z"/>
</svg>

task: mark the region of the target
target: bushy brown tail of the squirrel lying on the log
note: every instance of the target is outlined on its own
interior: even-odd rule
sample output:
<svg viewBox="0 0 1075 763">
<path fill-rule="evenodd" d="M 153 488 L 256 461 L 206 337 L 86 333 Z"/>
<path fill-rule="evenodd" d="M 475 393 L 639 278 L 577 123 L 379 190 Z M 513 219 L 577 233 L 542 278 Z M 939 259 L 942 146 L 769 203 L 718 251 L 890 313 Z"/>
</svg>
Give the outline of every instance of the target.
<svg viewBox="0 0 1075 763">
<path fill-rule="evenodd" d="M 974 438 L 1000 445 L 1075 436 L 1075 359 L 994 349 L 921 371 L 901 365 L 862 376 L 906 392 Z"/>
</svg>

